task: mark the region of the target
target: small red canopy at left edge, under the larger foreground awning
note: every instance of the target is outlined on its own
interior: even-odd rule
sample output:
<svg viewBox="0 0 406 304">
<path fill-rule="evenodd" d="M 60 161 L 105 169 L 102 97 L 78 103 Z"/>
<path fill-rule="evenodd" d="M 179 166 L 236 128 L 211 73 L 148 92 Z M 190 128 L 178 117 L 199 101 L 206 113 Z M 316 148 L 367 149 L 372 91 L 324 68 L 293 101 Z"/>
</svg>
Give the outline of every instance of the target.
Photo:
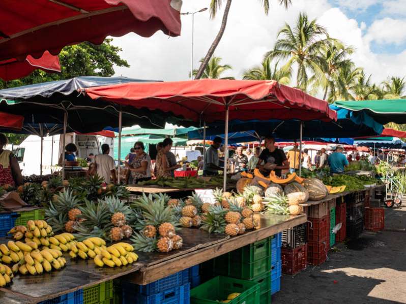
<svg viewBox="0 0 406 304">
<path fill-rule="evenodd" d="M 59 57 L 45 51 L 39 59 L 28 55 L 23 62 L 17 59 L 0 61 L 0 78 L 4 81 L 18 79 L 29 75 L 37 69 L 45 72 L 61 72 Z"/>
</svg>

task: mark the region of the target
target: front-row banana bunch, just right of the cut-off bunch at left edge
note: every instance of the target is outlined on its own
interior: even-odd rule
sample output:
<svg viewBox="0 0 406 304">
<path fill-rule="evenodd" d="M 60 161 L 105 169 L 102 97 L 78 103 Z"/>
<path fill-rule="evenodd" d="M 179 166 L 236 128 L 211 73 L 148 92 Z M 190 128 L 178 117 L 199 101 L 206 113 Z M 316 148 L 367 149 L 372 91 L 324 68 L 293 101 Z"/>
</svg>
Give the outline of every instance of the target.
<svg viewBox="0 0 406 304">
<path fill-rule="evenodd" d="M 62 257 L 62 251 L 45 247 L 41 251 L 39 249 L 25 251 L 24 258 L 13 265 L 12 271 L 34 276 L 41 275 L 44 271 L 50 272 L 52 268 L 60 269 L 65 265 L 66 259 Z"/>
</svg>

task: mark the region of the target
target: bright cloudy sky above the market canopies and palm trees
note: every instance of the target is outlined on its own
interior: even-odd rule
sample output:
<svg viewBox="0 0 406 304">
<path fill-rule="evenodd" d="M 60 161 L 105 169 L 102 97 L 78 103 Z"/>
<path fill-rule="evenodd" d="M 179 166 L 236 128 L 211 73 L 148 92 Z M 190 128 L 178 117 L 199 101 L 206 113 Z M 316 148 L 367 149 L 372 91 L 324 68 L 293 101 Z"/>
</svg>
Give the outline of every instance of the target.
<svg viewBox="0 0 406 304">
<path fill-rule="evenodd" d="M 288 10 L 279 6 L 278 0 L 270 3 L 266 16 L 259 0 L 233 0 L 224 36 L 215 51 L 222 64 L 233 67 L 224 76 L 241 79 L 244 70 L 258 65 L 273 48 L 278 30 L 285 22 L 293 26 L 300 12 L 316 18 L 331 37 L 353 46 L 353 60 L 372 74 L 373 82 L 406 75 L 406 0 L 292 0 Z M 183 0 L 182 12 L 209 5 L 210 0 Z M 209 11 L 195 14 L 194 69 L 217 35 L 222 12 L 215 19 L 209 18 Z M 121 56 L 131 65 L 115 67 L 116 75 L 164 81 L 188 79 L 191 19 L 190 15 L 182 16 L 180 37 L 168 38 L 159 31 L 150 38 L 134 33 L 114 38 L 113 44 L 123 49 Z"/>
</svg>

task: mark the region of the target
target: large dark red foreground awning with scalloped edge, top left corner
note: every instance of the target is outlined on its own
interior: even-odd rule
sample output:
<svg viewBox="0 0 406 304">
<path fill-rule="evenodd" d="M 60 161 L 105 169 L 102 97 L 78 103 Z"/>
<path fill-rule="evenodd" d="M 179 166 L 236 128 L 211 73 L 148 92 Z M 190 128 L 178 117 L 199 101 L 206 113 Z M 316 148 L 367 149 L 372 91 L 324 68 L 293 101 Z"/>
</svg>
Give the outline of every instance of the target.
<svg viewBox="0 0 406 304">
<path fill-rule="evenodd" d="M 157 30 L 181 33 L 180 0 L 2 0 L 0 60 L 45 50 L 56 55 L 70 44 L 101 44 L 107 36 L 131 31 L 150 37 Z"/>
</svg>

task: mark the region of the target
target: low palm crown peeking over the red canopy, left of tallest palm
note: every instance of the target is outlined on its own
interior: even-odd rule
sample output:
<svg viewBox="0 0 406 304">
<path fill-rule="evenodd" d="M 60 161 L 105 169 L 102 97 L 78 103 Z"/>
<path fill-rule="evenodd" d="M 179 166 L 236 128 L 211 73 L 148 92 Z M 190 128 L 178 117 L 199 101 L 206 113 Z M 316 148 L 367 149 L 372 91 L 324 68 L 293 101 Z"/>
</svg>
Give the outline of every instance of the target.
<svg viewBox="0 0 406 304">
<path fill-rule="evenodd" d="M 276 80 L 281 84 L 288 84 L 291 82 L 291 71 L 282 71 L 278 69 L 278 63 L 271 66 L 271 60 L 265 59 L 261 65 L 257 65 L 244 71 L 243 79 L 246 80 Z"/>
</svg>

